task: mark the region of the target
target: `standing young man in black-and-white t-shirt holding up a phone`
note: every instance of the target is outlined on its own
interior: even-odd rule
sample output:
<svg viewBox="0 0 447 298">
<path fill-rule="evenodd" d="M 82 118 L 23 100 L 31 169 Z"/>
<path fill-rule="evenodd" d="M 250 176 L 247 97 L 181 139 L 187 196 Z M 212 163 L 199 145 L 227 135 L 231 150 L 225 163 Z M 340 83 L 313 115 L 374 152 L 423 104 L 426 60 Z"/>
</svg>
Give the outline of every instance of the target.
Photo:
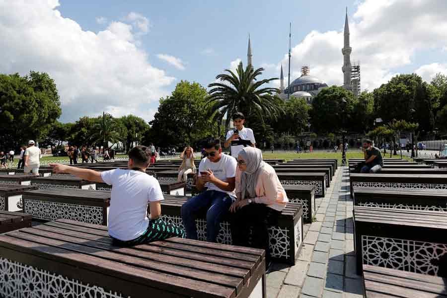
<svg viewBox="0 0 447 298">
<path fill-rule="evenodd" d="M 225 148 L 231 146 L 231 156 L 237 158 L 239 151 L 247 146 L 255 147 L 256 141 L 254 139 L 253 131 L 244 127 L 245 116 L 237 112 L 232 116 L 234 130 L 226 133 Z"/>
</svg>

